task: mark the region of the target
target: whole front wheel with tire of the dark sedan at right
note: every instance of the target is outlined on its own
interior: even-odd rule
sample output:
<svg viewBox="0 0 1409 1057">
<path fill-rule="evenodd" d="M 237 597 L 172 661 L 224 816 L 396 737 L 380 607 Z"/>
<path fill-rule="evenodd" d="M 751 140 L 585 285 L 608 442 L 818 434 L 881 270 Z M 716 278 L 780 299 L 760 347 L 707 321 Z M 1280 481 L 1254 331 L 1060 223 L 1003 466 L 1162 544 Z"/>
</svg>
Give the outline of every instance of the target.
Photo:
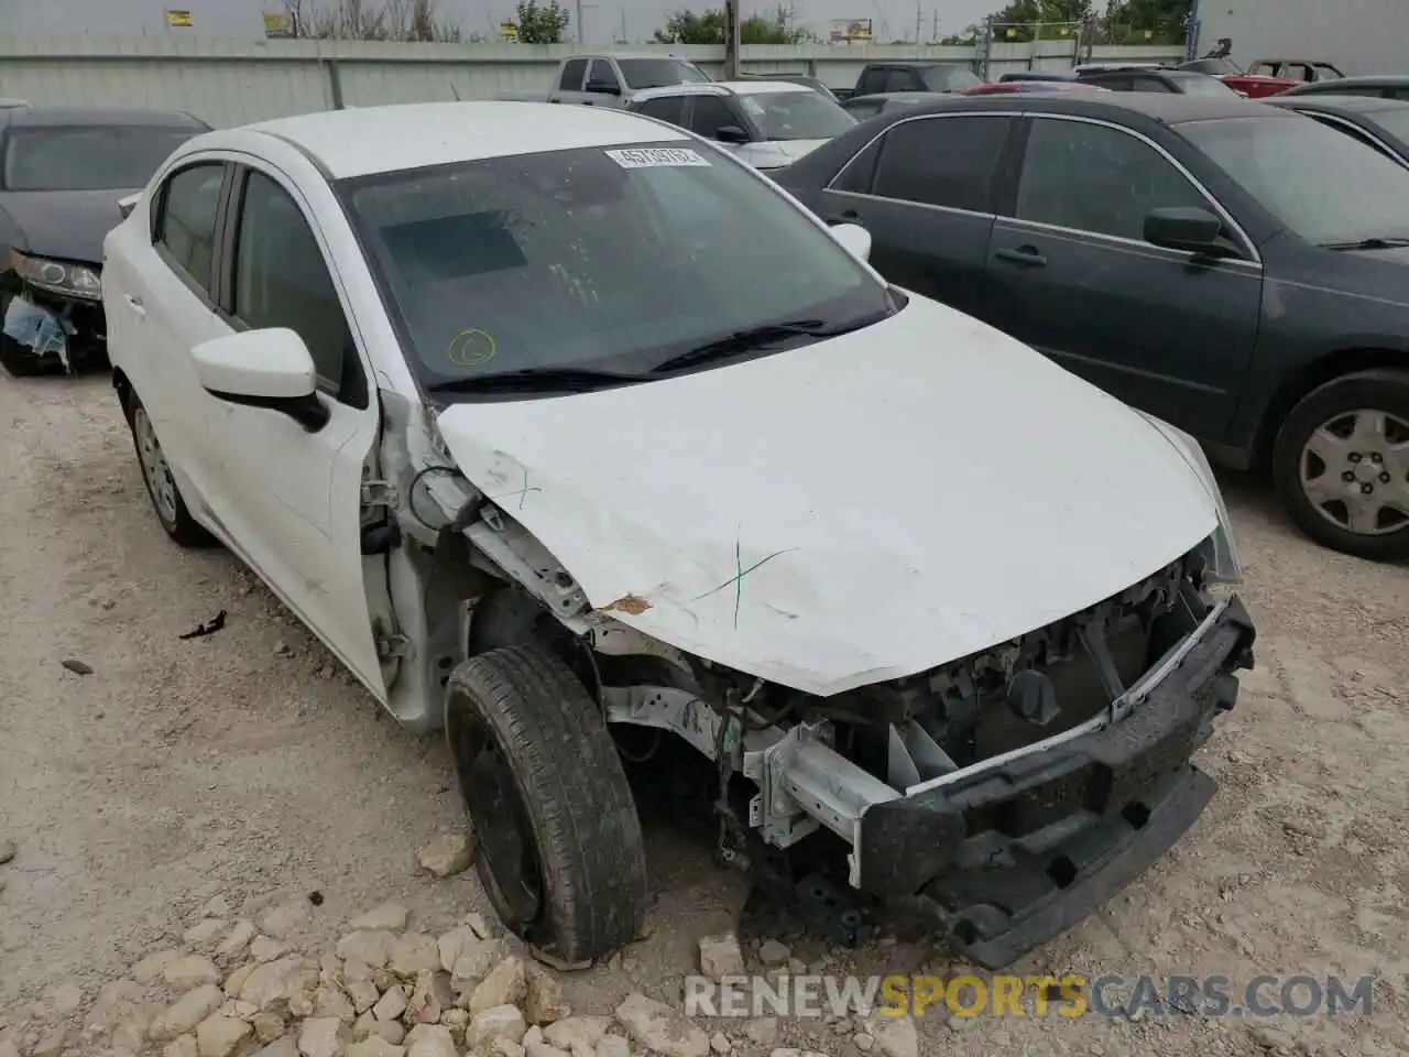
<svg viewBox="0 0 1409 1057">
<path fill-rule="evenodd" d="M 1409 558 L 1409 373 L 1360 371 L 1315 389 L 1277 435 L 1272 475 L 1312 540 L 1370 561 Z"/>
</svg>

